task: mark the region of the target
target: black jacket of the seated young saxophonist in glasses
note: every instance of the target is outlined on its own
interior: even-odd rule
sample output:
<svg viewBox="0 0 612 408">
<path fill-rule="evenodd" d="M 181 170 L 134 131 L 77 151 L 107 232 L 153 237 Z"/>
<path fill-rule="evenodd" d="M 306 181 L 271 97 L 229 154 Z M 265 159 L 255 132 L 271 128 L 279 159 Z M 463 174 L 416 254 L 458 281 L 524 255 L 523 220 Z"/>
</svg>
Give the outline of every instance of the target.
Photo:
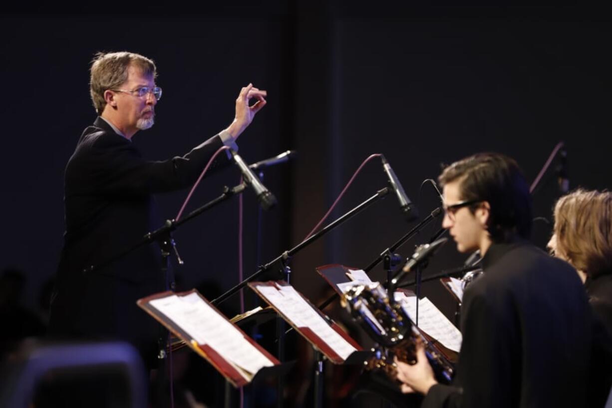
<svg viewBox="0 0 612 408">
<path fill-rule="evenodd" d="M 493 244 L 483 270 L 463 298 L 453 385 L 422 406 L 584 406 L 591 314 L 578 274 L 526 242 Z"/>
</svg>

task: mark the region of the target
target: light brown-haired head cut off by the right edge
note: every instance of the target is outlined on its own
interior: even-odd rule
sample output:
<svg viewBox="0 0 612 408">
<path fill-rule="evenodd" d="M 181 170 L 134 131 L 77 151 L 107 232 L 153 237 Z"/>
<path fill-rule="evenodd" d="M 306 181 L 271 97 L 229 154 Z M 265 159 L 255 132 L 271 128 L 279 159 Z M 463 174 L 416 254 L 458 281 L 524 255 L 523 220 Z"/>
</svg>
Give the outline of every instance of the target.
<svg viewBox="0 0 612 408">
<path fill-rule="evenodd" d="M 612 193 L 579 189 L 559 198 L 548 246 L 586 276 L 612 273 Z"/>
</svg>

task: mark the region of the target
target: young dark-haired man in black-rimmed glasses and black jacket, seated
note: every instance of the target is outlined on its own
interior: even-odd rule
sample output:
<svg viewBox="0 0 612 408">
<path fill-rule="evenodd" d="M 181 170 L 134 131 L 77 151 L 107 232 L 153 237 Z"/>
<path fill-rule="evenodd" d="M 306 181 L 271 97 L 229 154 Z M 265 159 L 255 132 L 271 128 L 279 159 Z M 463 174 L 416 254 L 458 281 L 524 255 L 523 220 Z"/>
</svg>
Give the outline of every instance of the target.
<svg viewBox="0 0 612 408">
<path fill-rule="evenodd" d="M 586 401 L 591 319 L 573 268 L 526 241 L 531 195 L 515 161 L 476 154 L 439 178 L 444 221 L 460 252 L 483 255 L 461 306 L 463 343 L 452 385 L 436 382 L 425 352 L 398 362 L 422 407 L 578 407 Z"/>
</svg>

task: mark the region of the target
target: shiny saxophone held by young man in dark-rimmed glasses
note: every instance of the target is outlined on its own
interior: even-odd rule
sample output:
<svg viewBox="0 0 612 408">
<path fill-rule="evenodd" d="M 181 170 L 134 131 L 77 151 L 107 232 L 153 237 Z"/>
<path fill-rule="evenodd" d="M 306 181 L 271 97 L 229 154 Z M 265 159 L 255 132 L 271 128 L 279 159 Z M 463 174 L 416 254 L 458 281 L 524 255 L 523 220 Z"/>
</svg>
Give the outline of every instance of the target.
<svg viewBox="0 0 612 408">
<path fill-rule="evenodd" d="M 454 374 L 452 363 L 420 333 L 401 305 L 389 300 L 381 284 L 353 286 L 344 293 L 341 304 L 379 344 L 373 350 L 374 357 L 365 362 L 365 369 L 382 370 L 397 381 L 394 357 L 414 365 L 417 342 L 422 342 L 436 379 L 450 383 Z"/>
</svg>

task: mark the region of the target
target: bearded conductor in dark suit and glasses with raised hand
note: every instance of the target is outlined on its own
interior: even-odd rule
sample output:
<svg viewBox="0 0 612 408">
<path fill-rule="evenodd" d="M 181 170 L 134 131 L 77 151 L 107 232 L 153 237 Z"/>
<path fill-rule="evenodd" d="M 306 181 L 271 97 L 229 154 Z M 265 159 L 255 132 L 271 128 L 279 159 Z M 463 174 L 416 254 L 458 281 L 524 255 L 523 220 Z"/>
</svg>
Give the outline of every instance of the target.
<svg viewBox="0 0 612 408">
<path fill-rule="evenodd" d="M 234 146 L 266 104 L 266 91 L 249 84 L 236 99 L 236 116 L 227 129 L 182 157 L 146 161 L 131 139 L 153 126 L 162 96 L 156 75 L 154 62 L 134 53 L 99 53 L 92 63 L 90 92 L 99 116 L 84 130 L 65 170 L 66 231 L 50 318 L 53 336 L 129 341 L 150 368 L 160 326 L 136 300 L 173 289 L 171 278 L 160 272 L 159 245 L 140 247 L 91 273 L 83 269 L 159 227 L 152 194 L 192 184 L 215 151 Z M 211 168 L 228 163 L 225 153 Z"/>
</svg>

